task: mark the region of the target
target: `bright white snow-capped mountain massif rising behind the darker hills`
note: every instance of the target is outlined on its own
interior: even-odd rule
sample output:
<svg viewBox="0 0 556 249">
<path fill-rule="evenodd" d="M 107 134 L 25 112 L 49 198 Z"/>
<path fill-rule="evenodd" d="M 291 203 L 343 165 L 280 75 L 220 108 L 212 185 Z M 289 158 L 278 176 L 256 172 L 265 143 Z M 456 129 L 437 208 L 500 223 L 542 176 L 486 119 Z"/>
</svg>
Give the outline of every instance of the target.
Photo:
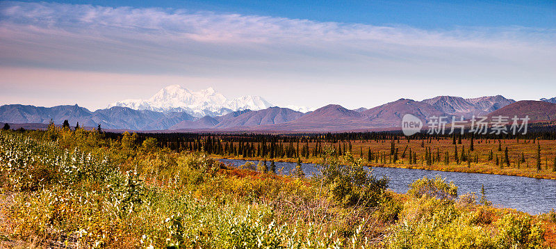
<svg viewBox="0 0 556 249">
<path fill-rule="evenodd" d="M 251 109 L 253 111 L 267 109 L 272 106 L 259 96 L 246 95 L 235 99 L 227 99 L 214 88 L 206 88 L 198 92 L 188 90 L 179 85 L 162 88 L 150 99 L 126 99 L 110 104 L 129 107 L 136 110 L 168 112 L 186 112 L 200 118 L 205 115 L 217 116 Z"/>
</svg>

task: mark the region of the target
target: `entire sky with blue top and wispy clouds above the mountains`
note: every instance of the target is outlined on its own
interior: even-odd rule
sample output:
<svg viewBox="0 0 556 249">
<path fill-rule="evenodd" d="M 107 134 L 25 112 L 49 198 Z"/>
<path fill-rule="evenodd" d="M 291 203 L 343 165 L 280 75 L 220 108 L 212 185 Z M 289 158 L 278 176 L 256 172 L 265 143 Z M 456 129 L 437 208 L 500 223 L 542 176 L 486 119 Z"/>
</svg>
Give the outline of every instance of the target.
<svg viewBox="0 0 556 249">
<path fill-rule="evenodd" d="M 556 96 L 556 1 L 0 1 L 0 104 Z"/>
</svg>

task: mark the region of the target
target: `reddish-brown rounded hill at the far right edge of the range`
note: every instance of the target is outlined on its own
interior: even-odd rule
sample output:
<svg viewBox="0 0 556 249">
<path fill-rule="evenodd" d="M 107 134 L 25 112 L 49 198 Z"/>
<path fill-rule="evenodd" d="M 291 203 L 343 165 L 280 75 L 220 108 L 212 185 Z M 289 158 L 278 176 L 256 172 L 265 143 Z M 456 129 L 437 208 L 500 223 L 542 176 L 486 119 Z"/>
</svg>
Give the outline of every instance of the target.
<svg viewBox="0 0 556 249">
<path fill-rule="evenodd" d="M 556 104 L 543 101 L 522 100 L 509 104 L 501 109 L 489 113 L 488 117 L 501 115 L 503 117 L 524 118 L 529 115 L 531 121 L 535 120 L 556 120 Z"/>
</svg>

